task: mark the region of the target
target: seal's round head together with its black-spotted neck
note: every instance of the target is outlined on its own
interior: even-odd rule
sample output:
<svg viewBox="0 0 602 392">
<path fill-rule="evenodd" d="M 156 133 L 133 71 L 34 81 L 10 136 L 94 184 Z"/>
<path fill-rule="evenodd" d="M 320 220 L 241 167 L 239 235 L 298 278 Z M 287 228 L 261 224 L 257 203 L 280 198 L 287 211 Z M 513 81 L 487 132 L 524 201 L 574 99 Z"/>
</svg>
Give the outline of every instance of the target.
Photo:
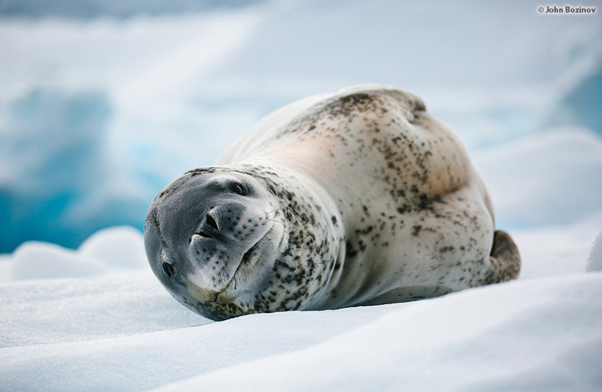
<svg viewBox="0 0 602 392">
<path fill-rule="evenodd" d="M 176 300 L 223 320 L 311 307 L 335 268 L 341 233 L 299 179 L 238 165 L 195 169 L 169 184 L 148 211 L 144 245 Z"/>
</svg>

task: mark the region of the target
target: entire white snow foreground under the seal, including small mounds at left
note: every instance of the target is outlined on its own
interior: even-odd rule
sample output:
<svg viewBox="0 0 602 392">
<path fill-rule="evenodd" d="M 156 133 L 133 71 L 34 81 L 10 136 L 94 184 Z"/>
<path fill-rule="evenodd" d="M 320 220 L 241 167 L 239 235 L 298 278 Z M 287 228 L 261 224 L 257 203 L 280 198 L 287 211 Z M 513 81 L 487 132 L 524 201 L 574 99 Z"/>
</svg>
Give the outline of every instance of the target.
<svg viewBox="0 0 602 392">
<path fill-rule="evenodd" d="M 72 253 L 25 244 L 46 249 L 48 257 L 16 251 L 0 264 L 20 267 L 24 275 L 32 268 L 69 276 L 69 264 L 57 262 L 52 270 L 29 259 L 69 254 L 96 260 L 104 272 L 31 279 L 30 270 L 30 279 L 0 284 L 0 386 L 599 391 L 602 272 L 596 268 L 598 244 L 591 244 L 601 227 L 602 217 L 593 216 L 576 225 L 513 232 L 524 258 L 518 281 L 405 304 L 255 314 L 219 323 L 178 304 L 148 267 L 111 266 L 109 260 L 119 261 L 111 251 L 141 252 L 135 231 L 103 230 Z"/>
</svg>

